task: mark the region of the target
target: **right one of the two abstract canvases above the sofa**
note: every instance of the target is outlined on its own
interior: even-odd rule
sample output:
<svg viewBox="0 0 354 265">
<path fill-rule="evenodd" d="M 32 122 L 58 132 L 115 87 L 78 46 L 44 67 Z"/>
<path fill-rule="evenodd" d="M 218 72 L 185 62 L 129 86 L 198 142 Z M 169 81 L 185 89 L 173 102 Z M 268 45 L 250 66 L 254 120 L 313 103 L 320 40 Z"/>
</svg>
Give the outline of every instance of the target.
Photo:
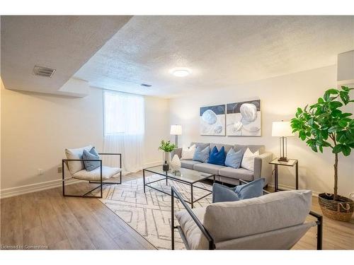
<svg viewBox="0 0 354 265">
<path fill-rule="evenodd" d="M 227 104 L 228 136 L 261 136 L 261 100 Z"/>
</svg>

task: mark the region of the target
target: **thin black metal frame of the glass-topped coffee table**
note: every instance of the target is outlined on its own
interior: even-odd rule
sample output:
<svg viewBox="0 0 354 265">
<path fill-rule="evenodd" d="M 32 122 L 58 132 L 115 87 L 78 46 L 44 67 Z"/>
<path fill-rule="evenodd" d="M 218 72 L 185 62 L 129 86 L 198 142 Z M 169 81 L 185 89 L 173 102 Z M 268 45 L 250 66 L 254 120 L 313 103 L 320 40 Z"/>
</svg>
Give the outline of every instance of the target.
<svg viewBox="0 0 354 265">
<path fill-rule="evenodd" d="M 152 172 L 152 173 L 160 175 L 160 176 L 164 176 L 164 178 L 156 179 L 156 180 L 154 180 L 152 182 L 145 182 L 145 171 Z M 193 181 L 193 182 L 192 181 L 188 182 L 188 181 L 183 180 L 183 179 L 178 179 L 178 178 L 175 178 L 175 177 L 171 177 L 171 176 L 167 175 L 167 172 L 165 174 L 161 174 L 161 172 L 156 172 L 156 171 L 153 171 L 153 170 L 149 170 L 149 167 L 148 168 L 144 168 L 142 170 L 142 179 L 143 179 L 143 182 L 144 182 L 144 193 L 145 193 L 145 187 L 149 187 L 151 189 L 155 189 L 158 192 L 162 192 L 164 194 L 167 194 L 167 195 L 171 196 L 171 193 L 165 192 L 164 190 L 161 190 L 161 189 L 157 189 L 156 187 L 152 187 L 150 185 L 150 184 L 155 183 L 155 182 L 160 182 L 161 180 L 166 180 L 166 185 L 168 185 L 169 184 L 168 180 L 171 179 L 171 180 L 174 180 L 176 182 L 180 182 L 182 184 L 186 184 L 186 185 L 190 186 L 190 201 L 187 201 L 187 200 L 184 200 L 184 201 L 186 203 L 190 204 L 191 208 L 193 208 L 193 204 L 195 202 L 200 201 L 201 199 L 205 198 L 206 196 L 212 194 L 212 191 L 210 189 L 205 189 L 205 188 L 202 188 L 202 187 L 193 186 L 193 184 L 195 184 L 197 182 L 201 182 L 202 180 L 205 180 L 205 179 L 209 179 L 210 177 L 212 177 L 213 183 L 215 183 L 215 175 L 205 175 L 205 178 L 198 179 L 198 180 Z M 207 191 L 209 193 L 205 194 L 204 196 L 201 196 L 198 199 L 193 200 L 193 187 L 196 188 L 196 189 L 203 189 L 203 190 L 205 190 L 205 191 Z"/>
</svg>

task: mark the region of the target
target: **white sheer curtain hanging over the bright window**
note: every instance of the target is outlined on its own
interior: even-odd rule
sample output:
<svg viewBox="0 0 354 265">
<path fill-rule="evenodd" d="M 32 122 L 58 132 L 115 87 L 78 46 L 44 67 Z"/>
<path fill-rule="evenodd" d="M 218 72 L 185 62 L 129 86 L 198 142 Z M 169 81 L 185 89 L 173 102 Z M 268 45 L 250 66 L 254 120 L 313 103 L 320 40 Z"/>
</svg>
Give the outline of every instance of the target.
<svg viewBox="0 0 354 265">
<path fill-rule="evenodd" d="M 105 153 L 122 153 L 122 172 L 142 170 L 144 153 L 144 97 L 110 90 L 104 91 Z M 117 166 L 108 155 L 105 162 Z"/>
</svg>

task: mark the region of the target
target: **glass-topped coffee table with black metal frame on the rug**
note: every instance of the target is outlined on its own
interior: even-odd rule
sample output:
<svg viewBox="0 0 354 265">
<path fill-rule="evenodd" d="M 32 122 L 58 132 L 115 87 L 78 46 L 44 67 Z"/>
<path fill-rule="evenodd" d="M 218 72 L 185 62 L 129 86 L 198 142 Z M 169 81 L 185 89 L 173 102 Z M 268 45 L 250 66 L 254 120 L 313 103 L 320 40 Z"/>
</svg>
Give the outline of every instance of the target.
<svg viewBox="0 0 354 265">
<path fill-rule="evenodd" d="M 152 182 L 145 182 L 145 180 L 146 180 L 145 179 L 145 172 L 152 172 L 154 174 L 161 175 L 163 177 L 161 179 L 156 179 Z M 203 199 L 206 196 L 212 194 L 212 191 L 210 189 L 205 189 L 203 187 L 195 186 L 195 183 L 201 182 L 202 180 L 205 180 L 205 179 L 209 179 L 210 177 L 212 177 L 213 183 L 214 183 L 215 182 L 215 175 L 204 173 L 204 172 L 199 172 L 199 171 L 195 171 L 195 170 L 190 170 L 188 168 L 183 168 L 183 167 L 178 171 L 169 170 L 167 172 L 162 170 L 162 165 L 158 165 L 156 167 L 147 167 L 142 170 L 142 179 L 144 182 L 144 193 L 145 193 L 145 187 L 149 187 L 151 189 L 155 189 L 156 191 L 163 192 L 164 194 L 171 195 L 171 193 L 167 193 L 164 190 L 158 189 L 158 188 L 153 187 L 151 185 L 154 182 L 160 182 L 162 180 L 166 180 L 166 185 L 168 185 L 169 179 L 171 179 L 173 181 L 180 182 L 180 183 L 190 186 L 190 201 L 185 200 L 185 202 L 190 204 L 190 206 L 192 208 L 193 208 L 193 204 L 196 201 L 199 201 L 200 199 Z M 205 194 L 204 196 L 201 196 L 198 199 L 194 199 L 193 198 L 193 188 L 203 189 L 203 190 L 207 191 L 208 193 Z"/>
</svg>

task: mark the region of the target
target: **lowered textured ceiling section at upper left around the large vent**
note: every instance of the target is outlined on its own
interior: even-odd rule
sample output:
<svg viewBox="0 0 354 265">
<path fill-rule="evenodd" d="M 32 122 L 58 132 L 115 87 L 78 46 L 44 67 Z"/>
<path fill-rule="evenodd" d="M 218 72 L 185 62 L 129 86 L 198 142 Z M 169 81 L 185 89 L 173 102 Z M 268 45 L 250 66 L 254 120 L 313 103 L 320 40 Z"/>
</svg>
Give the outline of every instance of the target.
<svg viewBox="0 0 354 265">
<path fill-rule="evenodd" d="M 1 16 L 1 79 L 8 89 L 57 90 L 131 16 Z M 54 68 L 54 76 L 33 75 L 33 66 Z"/>
</svg>

